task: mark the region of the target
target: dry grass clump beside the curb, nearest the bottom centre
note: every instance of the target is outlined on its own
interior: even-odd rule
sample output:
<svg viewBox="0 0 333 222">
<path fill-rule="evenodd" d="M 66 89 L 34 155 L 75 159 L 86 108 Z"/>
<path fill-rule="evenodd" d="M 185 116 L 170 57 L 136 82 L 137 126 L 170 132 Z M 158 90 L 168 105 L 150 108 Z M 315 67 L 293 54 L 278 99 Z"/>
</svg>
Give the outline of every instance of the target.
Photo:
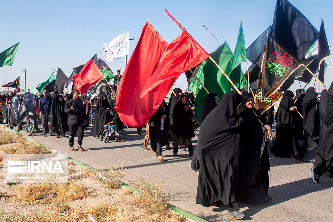
<svg viewBox="0 0 333 222">
<path fill-rule="evenodd" d="M 146 178 L 136 177 L 135 181 L 131 181 L 137 189 L 137 193 L 134 195 L 134 199 L 130 204 L 147 210 L 149 215 L 155 213 L 168 215 L 170 210 L 165 200 L 163 182 L 152 184 L 151 181 L 152 178 L 149 176 Z"/>
</svg>

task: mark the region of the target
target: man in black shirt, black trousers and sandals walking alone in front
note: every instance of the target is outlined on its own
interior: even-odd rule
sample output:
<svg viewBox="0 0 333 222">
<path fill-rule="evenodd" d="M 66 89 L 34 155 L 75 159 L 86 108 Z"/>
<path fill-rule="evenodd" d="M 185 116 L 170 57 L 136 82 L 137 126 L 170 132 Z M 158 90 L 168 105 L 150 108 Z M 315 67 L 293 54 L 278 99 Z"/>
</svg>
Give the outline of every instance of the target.
<svg viewBox="0 0 333 222">
<path fill-rule="evenodd" d="M 74 89 L 73 98 L 68 100 L 65 104 L 65 113 L 68 113 L 68 128 L 69 128 L 69 146 L 71 151 L 75 151 L 74 137 L 75 132 L 78 131 L 78 149 L 84 151 L 82 148 L 82 139 L 84 135 L 85 125 L 87 124 L 86 112 L 83 108 L 83 101 L 79 99 L 80 92 Z"/>
</svg>

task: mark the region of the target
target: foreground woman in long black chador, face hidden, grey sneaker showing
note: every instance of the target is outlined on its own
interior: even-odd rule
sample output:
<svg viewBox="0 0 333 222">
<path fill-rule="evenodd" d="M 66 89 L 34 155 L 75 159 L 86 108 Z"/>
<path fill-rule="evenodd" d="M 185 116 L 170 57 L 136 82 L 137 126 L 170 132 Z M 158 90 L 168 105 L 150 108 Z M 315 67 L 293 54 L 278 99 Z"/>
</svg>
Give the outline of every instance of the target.
<svg viewBox="0 0 333 222">
<path fill-rule="evenodd" d="M 202 206 L 228 205 L 229 217 L 241 219 L 243 172 L 240 149 L 241 120 L 236 112 L 242 96 L 225 93 L 200 127 L 191 168 L 199 170 L 196 203 Z"/>
</svg>

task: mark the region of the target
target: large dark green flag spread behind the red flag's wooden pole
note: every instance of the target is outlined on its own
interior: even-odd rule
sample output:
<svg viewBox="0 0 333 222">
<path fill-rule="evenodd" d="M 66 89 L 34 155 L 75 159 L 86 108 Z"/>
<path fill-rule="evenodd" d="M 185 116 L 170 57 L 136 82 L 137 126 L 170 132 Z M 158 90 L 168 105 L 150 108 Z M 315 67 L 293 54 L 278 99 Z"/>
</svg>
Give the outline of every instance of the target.
<svg viewBox="0 0 333 222">
<path fill-rule="evenodd" d="M 245 82 L 240 81 L 241 80 L 240 77 L 244 76 L 243 72 L 240 69 L 240 66 L 231 70 L 233 54 L 226 42 L 224 42 L 220 47 L 218 47 L 216 51 L 211 54 L 211 57 L 215 60 L 216 63 L 218 63 L 221 69 L 229 76 L 229 78 L 233 81 L 236 87 L 243 88 L 247 84 L 245 77 L 244 77 Z M 202 84 L 206 87 L 206 89 L 210 93 L 214 92 L 218 94 L 219 100 L 222 98 L 224 93 L 233 90 L 233 87 L 229 83 L 227 78 L 210 59 L 202 62 L 200 69 L 197 73 L 197 76 L 200 76 L 200 78 L 202 79 L 202 80 L 200 79 L 200 81 L 202 81 Z M 194 81 L 197 80 L 194 79 L 193 82 Z M 195 84 L 196 83 L 193 83 L 192 86 L 195 87 Z M 198 86 L 195 91 L 196 91 L 196 97 L 194 100 L 194 106 L 195 106 L 196 116 L 201 121 L 203 102 L 205 97 L 207 96 L 207 92 L 205 89 L 202 88 L 202 86 Z"/>
</svg>

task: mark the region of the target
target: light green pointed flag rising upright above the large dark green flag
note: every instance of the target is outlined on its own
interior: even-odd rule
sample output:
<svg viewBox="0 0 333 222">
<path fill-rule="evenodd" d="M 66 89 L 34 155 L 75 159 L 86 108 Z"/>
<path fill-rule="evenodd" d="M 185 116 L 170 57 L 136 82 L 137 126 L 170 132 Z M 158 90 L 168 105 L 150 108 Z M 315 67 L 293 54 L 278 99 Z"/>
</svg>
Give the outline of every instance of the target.
<svg viewBox="0 0 333 222">
<path fill-rule="evenodd" d="M 246 58 L 243 27 L 242 27 L 242 22 L 240 22 L 236 48 L 235 48 L 235 52 L 233 53 L 233 58 L 232 58 L 232 62 L 231 62 L 231 70 L 235 69 L 242 62 L 246 62 L 246 61 L 247 61 L 247 58 Z"/>
</svg>

